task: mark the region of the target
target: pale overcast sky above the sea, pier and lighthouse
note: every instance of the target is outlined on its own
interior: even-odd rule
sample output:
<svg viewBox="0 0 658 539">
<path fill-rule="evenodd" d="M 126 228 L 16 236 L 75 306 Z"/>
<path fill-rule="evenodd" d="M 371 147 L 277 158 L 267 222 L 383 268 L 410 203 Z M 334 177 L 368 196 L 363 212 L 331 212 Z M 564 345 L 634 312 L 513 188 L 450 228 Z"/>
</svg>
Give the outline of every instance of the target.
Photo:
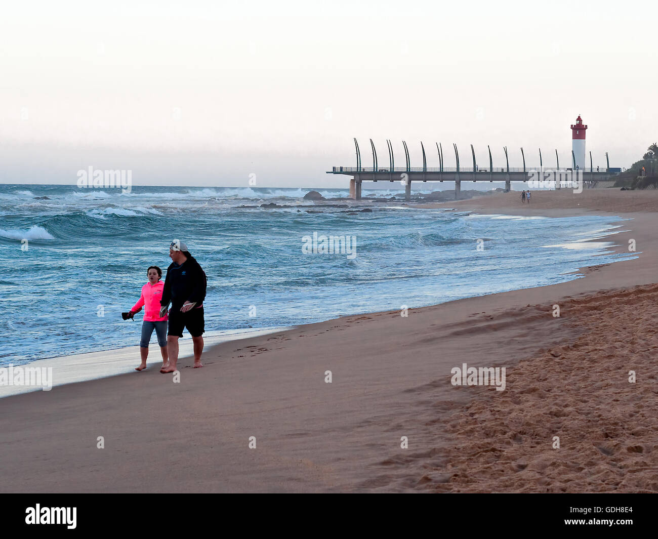
<svg viewBox="0 0 658 539">
<path fill-rule="evenodd" d="M 92 5 L 93 4 L 93 5 Z M 569 125 L 594 166 L 658 139 L 656 24 L 646 2 L 89 1 L 5 3 L 0 182 L 344 187 L 369 138 L 421 166 L 555 166 Z M 563 161 L 564 160 L 564 161 Z M 397 164 L 396 163 L 396 164 Z M 468 166 L 467 165 L 467 166 Z"/>
</svg>

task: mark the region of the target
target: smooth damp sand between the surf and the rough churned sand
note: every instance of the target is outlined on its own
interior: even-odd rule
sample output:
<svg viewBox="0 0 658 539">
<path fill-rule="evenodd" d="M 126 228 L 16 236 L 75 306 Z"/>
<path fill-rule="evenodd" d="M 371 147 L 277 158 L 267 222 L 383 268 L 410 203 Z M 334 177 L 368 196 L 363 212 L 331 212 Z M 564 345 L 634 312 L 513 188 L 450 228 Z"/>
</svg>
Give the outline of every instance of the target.
<svg viewBox="0 0 658 539">
<path fill-rule="evenodd" d="M 645 194 L 655 208 L 658 197 Z M 521 215 L 504 196 L 491 195 L 492 206 L 472 211 L 513 208 Z M 522 210 L 551 217 L 535 200 Z M 475 203 L 482 199 L 449 205 L 471 211 Z M 548 210 L 554 217 L 601 215 L 598 207 Z M 182 360 L 180 384 L 145 371 L 72 384 L 66 394 L 5 399 L 0 428 L 8 473 L 0 490 L 405 492 L 453 485 L 455 475 L 446 479 L 444 469 L 458 469 L 451 449 L 463 440 L 442 422 L 481 403 L 490 388 L 451 386 L 451 367 L 507 366 L 514 390 L 520 361 L 583 333 L 569 317 L 553 318 L 553 304 L 654 282 L 655 209 L 605 214 L 634 219 L 615 235 L 616 252 L 628 252 L 624 242 L 632 238 L 642 254 L 582 268 L 585 278 L 409 309 L 407 319 L 399 311 L 350 315 L 218 344 L 204 353 L 203 376 Z M 84 415 L 72 416 L 72 406 Z M 13 430 L 11 417 L 30 430 Z M 96 449 L 97 436 L 105 436 L 107 449 Z M 250 436 L 256 449 L 248 447 Z M 46 475 L 26 476 L 26 458 L 41 461 Z"/>
</svg>

